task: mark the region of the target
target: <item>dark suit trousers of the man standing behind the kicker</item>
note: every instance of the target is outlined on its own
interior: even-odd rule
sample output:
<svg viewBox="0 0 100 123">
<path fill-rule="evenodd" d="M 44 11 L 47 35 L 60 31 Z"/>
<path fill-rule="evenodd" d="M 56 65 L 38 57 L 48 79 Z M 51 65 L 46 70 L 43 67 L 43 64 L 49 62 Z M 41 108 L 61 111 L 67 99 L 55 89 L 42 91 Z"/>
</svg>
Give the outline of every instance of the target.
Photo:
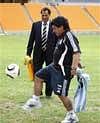
<svg viewBox="0 0 100 123">
<path fill-rule="evenodd" d="M 34 72 L 36 73 L 38 70 L 43 68 L 43 64 L 45 63 L 46 66 L 52 62 L 52 58 L 50 54 L 46 54 L 45 52 L 41 52 L 39 54 L 39 58 L 36 58 L 35 55 L 33 56 L 33 64 L 34 64 Z M 52 88 L 51 83 L 46 82 L 45 85 L 45 95 L 51 96 L 52 95 Z"/>
</svg>

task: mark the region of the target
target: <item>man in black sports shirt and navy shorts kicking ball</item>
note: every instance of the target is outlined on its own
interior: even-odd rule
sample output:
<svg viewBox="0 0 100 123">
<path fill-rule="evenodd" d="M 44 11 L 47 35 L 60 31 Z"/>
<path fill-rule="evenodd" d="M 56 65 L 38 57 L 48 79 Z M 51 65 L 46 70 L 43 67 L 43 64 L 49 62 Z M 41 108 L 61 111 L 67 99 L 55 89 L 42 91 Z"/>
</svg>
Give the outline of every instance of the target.
<svg viewBox="0 0 100 123">
<path fill-rule="evenodd" d="M 54 93 L 62 101 L 67 114 L 61 123 L 76 123 L 79 119 L 74 112 L 72 102 L 68 97 L 68 90 L 71 79 L 76 74 L 80 63 L 80 47 L 76 36 L 70 31 L 68 20 L 62 16 L 52 21 L 53 32 L 57 35 L 58 41 L 53 54 L 53 63 L 46 68 L 36 72 L 34 83 L 34 94 L 23 109 L 29 110 L 32 107 L 42 106 L 40 92 L 44 80 L 49 80 Z"/>
</svg>

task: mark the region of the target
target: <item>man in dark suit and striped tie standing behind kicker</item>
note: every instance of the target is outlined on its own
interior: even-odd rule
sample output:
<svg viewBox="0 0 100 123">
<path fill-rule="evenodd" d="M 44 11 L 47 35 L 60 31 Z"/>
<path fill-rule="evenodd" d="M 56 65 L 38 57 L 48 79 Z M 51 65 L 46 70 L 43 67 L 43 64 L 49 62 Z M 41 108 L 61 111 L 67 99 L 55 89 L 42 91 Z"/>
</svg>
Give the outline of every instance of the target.
<svg viewBox="0 0 100 123">
<path fill-rule="evenodd" d="M 44 62 L 49 65 L 53 60 L 53 52 L 56 45 L 55 35 L 52 32 L 50 23 L 51 11 L 48 8 L 41 10 L 42 20 L 33 23 L 32 30 L 27 45 L 27 56 L 31 57 L 33 51 L 34 73 L 43 67 Z M 52 95 L 52 88 L 46 82 L 46 96 Z"/>
</svg>

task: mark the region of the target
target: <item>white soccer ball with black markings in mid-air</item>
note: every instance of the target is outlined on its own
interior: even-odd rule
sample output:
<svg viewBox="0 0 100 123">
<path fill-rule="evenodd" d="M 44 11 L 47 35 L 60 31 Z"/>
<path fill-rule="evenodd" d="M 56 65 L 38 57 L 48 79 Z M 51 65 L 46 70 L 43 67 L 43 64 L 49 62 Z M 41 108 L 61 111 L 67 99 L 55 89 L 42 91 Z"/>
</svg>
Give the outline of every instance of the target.
<svg viewBox="0 0 100 123">
<path fill-rule="evenodd" d="M 15 79 L 20 75 L 20 68 L 17 64 L 10 64 L 6 67 L 5 73 L 10 78 Z"/>
</svg>

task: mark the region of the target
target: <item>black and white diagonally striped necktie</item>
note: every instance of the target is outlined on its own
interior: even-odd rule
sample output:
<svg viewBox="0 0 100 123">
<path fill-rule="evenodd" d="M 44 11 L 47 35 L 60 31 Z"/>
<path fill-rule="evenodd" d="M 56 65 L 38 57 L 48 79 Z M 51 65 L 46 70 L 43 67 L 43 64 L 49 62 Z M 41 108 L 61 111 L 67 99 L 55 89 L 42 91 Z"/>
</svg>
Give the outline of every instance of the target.
<svg viewBox="0 0 100 123">
<path fill-rule="evenodd" d="M 42 33 L 42 50 L 46 50 L 46 44 L 47 44 L 47 24 L 43 25 L 43 33 Z"/>
</svg>

